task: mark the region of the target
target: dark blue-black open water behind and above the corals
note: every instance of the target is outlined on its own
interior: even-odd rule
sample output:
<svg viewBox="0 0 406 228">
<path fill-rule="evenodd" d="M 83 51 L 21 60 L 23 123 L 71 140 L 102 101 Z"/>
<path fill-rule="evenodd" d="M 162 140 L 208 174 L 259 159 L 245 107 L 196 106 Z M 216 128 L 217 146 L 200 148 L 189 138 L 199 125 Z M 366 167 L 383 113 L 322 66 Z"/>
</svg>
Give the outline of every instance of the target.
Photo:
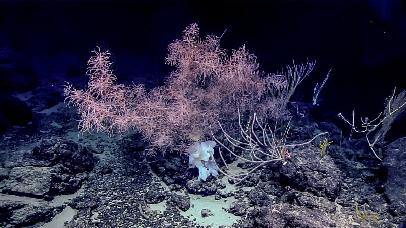
<svg viewBox="0 0 406 228">
<path fill-rule="evenodd" d="M 119 80 L 132 81 L 134 72 L 143 72 L 162 82 L 174 69 L 165 65 L 167 45 L 196 22 L 202 36 L 227 29 L 221 47 L 230 52 L 245 44 L 258 57 L 259 70 L 276 72 L 292 60 L 316 59 L 300 86 L 302 101 L 312 100 L 314 85 L 332 68 L 320 94 L 320 108 L 331 115 L 356 109 L 360 116 L 375 116 L 394 86 L 399 92 L 406 88 L 406 13 L 400 1 L 1 4 L 2 42 L 20 65 L 37 72 L 70 68 L 83 75 L 90 51 L 107 44 Z"/>
</svg>

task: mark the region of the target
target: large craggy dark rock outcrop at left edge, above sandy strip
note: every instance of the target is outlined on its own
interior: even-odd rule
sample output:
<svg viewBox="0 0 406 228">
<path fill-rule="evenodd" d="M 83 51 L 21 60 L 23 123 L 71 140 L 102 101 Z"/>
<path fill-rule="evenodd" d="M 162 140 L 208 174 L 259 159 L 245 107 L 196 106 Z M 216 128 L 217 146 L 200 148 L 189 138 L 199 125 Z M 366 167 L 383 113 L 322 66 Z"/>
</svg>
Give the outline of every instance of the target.
<svg viewBox="0 0 406 228">
<path fill-rule="evenodd" d="M 1 170 L 2 192 L 45 200 L 76 192 L 95 163 L 89 149 L 58 137 L 42 138 L 7 155 L 1 158 L 6 167 Z"/>
</svg>

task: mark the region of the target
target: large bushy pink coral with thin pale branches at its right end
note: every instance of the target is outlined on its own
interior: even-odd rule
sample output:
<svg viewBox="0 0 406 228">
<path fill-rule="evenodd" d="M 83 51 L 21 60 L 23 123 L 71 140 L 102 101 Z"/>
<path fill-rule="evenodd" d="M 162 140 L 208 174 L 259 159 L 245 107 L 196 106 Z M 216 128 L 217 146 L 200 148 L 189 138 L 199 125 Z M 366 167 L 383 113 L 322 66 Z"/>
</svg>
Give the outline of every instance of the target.
<svg viewBox="0 0 406 228">
<path fill-rule="evenodd" d="M 256 113 L 260 121 L 286 119 L 287 102 L 314 63 L 288 67 L 287 75 L 258 71 L 256 57 L 244 46 L 220 48 L 220 38 L 201 39 L 197 24 L 183 31 L 168 46 L 166 63 L 176 66 L 163 86 L 147 91 L 144 85 L 117 84 L 109 51 L 94 50 L 88 61 L 87 89 L 65 85 L 65 101 L 78 107 L 80 133 L 121 135 L 136 129 L 149 143 L 149 155 L 157 151 L 186 153 L 196 135 L 210 137 L 221 122 L 231 134 L 238 130 L 236 110 Z"/>
</svg>

